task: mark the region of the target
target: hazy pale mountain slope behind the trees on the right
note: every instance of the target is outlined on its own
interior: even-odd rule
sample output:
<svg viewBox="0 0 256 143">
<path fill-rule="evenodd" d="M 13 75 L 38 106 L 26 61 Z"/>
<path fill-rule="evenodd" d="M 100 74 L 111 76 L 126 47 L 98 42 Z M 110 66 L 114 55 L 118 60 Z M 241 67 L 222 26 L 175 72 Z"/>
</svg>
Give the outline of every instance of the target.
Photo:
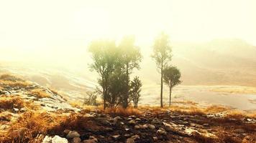
<svg viewBox="0 0 256 143">
<path fill-rule="evenodd" d="M 173 43 L 172 63 L 180 69 L 183 84 L 256 87 L 256 46 L 240 39 L 216 39 L 203 44 Z M 147 71 L 142 69 L 142 73 L 155 71 L 153 61 L 147 65 L 150 67 Z M 159 81 L 159 77 L 154 78 Z"/>
</svg>

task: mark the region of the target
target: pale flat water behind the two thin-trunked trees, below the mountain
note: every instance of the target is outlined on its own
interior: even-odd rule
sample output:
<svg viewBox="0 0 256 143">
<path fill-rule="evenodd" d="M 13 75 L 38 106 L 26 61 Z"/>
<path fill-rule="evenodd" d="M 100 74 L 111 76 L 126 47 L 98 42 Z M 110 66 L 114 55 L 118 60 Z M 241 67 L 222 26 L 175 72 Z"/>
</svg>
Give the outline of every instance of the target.
<svg viewBox="0 0 256 143">
<path fill-rule="evenodd" d="M 173 89 L 172 101 L 189 100 L 201 105 L 218 104 L 233 107 L 241 110 L 256 109 L 256 104 L 250 100 L 256 100 L 256 94 L 248 93 L 229 93 L 229 92 L 213 92 L 216 88 L 229 88 L 232 90 L 240 90 L 243 87 L 231 86 L 179 86 Z M 239 89 L 237 89 L 239 88 Z M 164 88 L 163 101 L 168 104 L 169 92 L 168 87 Z M 245 91 L 246 92 L 246 91 Z M 159 86 L 148 86 L 143 88 L 140 104 L 148 104 L 151 106 L 159 106 L 160 104 L 160 88 Z"/>
</svg>

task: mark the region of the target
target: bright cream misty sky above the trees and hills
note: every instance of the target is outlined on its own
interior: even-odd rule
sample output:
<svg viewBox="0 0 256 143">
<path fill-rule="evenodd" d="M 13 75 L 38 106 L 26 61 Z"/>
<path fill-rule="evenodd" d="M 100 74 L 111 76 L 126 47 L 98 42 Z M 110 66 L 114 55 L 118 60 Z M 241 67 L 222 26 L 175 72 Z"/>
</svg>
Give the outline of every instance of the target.
<svg viewBox="0 0 256 143">
<path fill-rule="evenodd" d="M 160 31 L 172 41 L 256 45 L 255 14 L 254 0 L 0 1 L 0 60 L 70 61 L 84 56 L 92 39 L 132 34 L 150 45 Z"/>
</svg>

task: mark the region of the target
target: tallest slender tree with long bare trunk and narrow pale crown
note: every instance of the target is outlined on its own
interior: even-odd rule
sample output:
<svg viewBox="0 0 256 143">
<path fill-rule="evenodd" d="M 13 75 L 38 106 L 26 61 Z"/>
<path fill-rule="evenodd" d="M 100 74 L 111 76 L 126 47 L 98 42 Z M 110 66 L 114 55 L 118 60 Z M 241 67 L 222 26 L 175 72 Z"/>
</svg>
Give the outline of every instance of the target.
<svg viewBox="0 0 256 143">
<path fill-rule="evenodd" d="M 161 91 L 160 91 L 160 106 L 163 107 L 163 69 L 168 66 L 171 60 L 172 49 L 170 46 L 169 36 L 165 33 L 161 33 L 153 46 L 152 58 L 157 64 L 157 68 L 160 69 L 161 74 Z"/>
</svg>

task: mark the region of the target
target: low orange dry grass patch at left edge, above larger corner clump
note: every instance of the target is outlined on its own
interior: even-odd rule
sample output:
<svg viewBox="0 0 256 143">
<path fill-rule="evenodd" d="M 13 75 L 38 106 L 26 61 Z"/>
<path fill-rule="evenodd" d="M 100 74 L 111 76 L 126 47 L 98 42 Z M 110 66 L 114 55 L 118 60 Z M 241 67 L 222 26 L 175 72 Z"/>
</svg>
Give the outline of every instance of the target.
<svg viewBox="0 0 256 143">
<path fill-rule="evenodd" d="M 8 97 L 1 97 L 0 99 L 0 109 L 8 110 L 8 109 L 22 109 L 23 107 L 27 109 L 38 109 L 35 104 L 32 102 L 25 102 L 20 97 L 15 96 L 8 96 Z"/>
</svg>

